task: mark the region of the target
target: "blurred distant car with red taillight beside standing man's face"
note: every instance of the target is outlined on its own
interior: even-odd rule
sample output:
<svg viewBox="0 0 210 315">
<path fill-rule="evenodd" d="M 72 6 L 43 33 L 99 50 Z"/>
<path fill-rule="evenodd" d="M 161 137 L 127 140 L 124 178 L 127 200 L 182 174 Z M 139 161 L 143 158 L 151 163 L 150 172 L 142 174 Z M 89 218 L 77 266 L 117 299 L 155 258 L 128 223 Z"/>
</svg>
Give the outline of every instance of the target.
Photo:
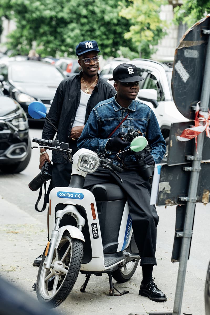
<svg viewBox="0 0 210 315">
<path fill-rule="evenodd" d="M 61 58 L 55 62 L 55 66 L 59 67 L 67 77 L 73 76 L 82 70 L 78 64 L 78 59 L 72 58 Z"/>
</svg>

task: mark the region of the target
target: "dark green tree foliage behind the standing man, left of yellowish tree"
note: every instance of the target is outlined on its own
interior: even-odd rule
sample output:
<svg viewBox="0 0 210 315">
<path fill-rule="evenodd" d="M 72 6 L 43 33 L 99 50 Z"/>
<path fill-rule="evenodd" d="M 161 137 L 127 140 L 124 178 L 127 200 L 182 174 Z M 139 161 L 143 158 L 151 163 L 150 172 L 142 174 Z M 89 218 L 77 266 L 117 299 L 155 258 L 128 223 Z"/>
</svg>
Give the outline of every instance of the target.
<svg viewBox="0 0 210 315">
<path fill-rule="evenodd" d="M 123 37 L 131 24 L 120 9 L 118 0 L 0 0 L 0 16 L 16 22 L 7 44 L 14 54 L 27 54 L 36 43 L 42 56 L 75 56 L 77 43 L 93 39 L 104 56 L 118 56 L 120 46 L 133 51 Z"/>
</svg>

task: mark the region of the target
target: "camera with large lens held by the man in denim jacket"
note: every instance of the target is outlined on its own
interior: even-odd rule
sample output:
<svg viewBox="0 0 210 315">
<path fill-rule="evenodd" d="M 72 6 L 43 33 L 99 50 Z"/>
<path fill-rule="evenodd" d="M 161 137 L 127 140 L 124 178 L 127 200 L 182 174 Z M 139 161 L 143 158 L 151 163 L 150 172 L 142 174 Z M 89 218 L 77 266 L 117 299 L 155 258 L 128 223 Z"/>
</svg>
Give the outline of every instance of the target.
<svg viewBox="0 0 210 315">
<path fill-rule="evenodd" d="M 122 140 L 123 141 L 129 141 L 131 142 L 134 138 L 138 137 L 138 136 L 142 136 L 142 133 L 139 131 L 139 129 L 129 129 L 128 133 L 125 135 L 122 135 Z M 137 164 L 139 166 L 139 171 L 142 177 L 145 178 L 150 178 L 153 176 L 154 173 L 154 165 L 148 165 L 145 163 L 144 160 L 144 155 L 146 152 L 150 152 L 150 146 L 146 145 L 145 148 L 139 152 L 133 152 L 133 154 L 135 155 Z"/>
</svg>

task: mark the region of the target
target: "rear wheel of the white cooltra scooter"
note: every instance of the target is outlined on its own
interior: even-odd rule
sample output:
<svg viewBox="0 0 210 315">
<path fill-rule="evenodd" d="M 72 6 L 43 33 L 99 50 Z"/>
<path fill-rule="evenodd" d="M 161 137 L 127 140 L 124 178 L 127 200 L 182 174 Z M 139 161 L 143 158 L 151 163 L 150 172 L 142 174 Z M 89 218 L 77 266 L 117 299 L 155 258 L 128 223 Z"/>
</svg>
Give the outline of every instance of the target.
<svg viewBox="0 0 210 315">
<path fill-rule="evenodd" d="M 122 268 L 118 267 L 117 270 L 111 272 L 112 277 L 119 283 L 128 281 L 136 271 L 139 260 L 128 261 Z"/>
</svg>

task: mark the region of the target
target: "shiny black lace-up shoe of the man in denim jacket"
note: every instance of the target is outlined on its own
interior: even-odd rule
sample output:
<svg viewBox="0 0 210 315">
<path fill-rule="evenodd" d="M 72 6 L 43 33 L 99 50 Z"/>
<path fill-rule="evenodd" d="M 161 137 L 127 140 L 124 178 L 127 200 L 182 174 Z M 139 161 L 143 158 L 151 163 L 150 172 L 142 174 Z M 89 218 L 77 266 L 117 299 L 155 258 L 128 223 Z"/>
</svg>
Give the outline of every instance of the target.
<svg viewBox="0 0 210 315">
<path fill-rule="evenodd" d="M 150 300 L 156 302 L 162 302 L 167 300 L 166 295 L 160 289 L 158 289 L 154 281 L 150 281 L 147 285 L 141 283 L 139 295 L 146 296 Z"/>
</svg>

